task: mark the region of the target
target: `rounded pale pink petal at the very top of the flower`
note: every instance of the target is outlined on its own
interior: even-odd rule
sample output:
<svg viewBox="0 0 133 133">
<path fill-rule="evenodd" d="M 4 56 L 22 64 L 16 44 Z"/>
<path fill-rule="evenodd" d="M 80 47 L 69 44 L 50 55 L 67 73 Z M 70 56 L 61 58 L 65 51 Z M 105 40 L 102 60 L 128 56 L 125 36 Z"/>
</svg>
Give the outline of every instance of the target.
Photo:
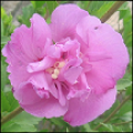
<svg viewBox="0 0 133 133">
<path fill-rule="evenodd" d="M 61 4 L 51 17 L 52 38 L 55 42 L 63 38 L 75 34 L 76 23 L 84 17 L 89 16 L 88 11 L 80 9 L 76 4 Z"/>
</svg>

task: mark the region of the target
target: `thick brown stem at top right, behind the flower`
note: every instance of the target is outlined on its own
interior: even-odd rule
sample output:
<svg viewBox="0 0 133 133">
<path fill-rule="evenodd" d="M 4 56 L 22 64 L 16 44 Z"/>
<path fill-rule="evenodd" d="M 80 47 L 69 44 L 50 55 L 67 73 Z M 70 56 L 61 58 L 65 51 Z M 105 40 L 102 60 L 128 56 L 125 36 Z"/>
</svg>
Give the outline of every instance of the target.
<svg viewBox="0 0 133 133">
<path fill-rule="evenodd" d="M 101 17 L 101 22 L 105 22 L 124 2 L 126 1 L 116 1 L 111 9 Z"/>
</svg>

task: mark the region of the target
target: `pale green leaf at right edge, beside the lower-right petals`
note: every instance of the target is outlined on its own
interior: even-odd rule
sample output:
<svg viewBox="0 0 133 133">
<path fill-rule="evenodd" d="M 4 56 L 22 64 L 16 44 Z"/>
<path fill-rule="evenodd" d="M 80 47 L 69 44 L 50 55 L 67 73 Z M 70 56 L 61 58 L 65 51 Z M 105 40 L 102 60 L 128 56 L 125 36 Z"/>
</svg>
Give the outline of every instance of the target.
<svg viewBox="0 0 133 133">
<path fill-rule="evenodd" d="M 129 79 L 120 79 L 117 81 L 116 89 L 117 90 L 124 90 L 124 89 L 126 89 L 127 86 L 131 86 L 131 85 L 132 85 L 132 81 L 130 81 Z"/>
</svg>

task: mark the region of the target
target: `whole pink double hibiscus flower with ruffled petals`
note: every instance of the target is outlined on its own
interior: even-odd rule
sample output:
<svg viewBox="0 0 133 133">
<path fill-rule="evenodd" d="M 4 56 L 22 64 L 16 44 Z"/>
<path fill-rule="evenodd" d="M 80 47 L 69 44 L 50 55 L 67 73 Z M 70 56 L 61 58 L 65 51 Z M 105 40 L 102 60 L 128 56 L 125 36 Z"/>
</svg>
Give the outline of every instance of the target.
<svg viewBox="0 0 133 133">
<path fill-rule="evenodd" d="M 63 116 L 72 126 L 109 110 L 129 63 L 121 34 L 75 4 L 59 6 L 50 24 L 37 13 L 30 21 L 2 50 L 21 108 L 39 117 Z"/>
</svg>

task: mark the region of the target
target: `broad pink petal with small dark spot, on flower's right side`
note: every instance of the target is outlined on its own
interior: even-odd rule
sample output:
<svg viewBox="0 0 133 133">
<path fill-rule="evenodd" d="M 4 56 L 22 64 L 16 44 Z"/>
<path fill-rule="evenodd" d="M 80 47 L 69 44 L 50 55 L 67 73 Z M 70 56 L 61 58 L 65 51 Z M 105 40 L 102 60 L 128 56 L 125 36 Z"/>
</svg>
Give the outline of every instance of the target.
<svg viewBox="0 0 133 133">
<path fill-rule="evenodd" d="M 88 52 L 84 52 L 92 65 L 86 73 L 90 88 L 93 88 L 96 94 L 114 88 L 116 80 L 124 75 L 129 63 L 127 49 L 122 35 L 91 16 L 79 22 L 76 32 L 89 47 Z"/>
</svg>

